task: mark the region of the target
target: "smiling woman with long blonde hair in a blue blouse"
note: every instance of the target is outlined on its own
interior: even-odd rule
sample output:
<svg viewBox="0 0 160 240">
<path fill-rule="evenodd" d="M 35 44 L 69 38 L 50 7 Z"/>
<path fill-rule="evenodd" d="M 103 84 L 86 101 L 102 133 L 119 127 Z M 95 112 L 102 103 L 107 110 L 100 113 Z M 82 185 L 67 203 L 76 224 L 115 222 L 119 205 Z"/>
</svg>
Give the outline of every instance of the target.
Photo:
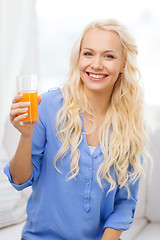
<svg viewBox="0 0 160 240">
<path fill-rule="evenodd" d="M 118 22 L 91 23 L 68 81 L 39 97 L 38 125 L 19 124 L 27 104 L 13 99 L 21 138 L 4 171 L 17 190 L 33 190 L 22 239 L 118 240 L 129 229 L 145 141 L 137 53 Z"/>
</svg>

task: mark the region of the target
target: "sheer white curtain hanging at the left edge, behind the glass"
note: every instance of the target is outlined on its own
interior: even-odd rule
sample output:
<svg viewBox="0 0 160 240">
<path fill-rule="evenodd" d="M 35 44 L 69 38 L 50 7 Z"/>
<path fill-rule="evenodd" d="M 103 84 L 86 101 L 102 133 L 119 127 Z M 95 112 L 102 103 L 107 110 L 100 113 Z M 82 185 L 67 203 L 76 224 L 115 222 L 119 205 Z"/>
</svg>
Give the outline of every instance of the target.
<svg viewBox="0 0 160 240">
<path fill-rule="evenodd" d="M 37 74 L 34 6 L 35 0 L 0 0 L 0 161 L 16 76 Z"/>
</svg>

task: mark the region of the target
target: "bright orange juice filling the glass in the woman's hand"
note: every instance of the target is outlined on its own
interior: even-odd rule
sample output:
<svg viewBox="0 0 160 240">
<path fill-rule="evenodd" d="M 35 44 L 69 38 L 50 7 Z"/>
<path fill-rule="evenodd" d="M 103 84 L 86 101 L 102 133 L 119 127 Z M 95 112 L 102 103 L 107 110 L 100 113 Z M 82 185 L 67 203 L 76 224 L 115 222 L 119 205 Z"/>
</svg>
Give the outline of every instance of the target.
<svg viewBox="0 0 160 240">
<path fill-rule="evenodd" d="M 30 102 L 28 106 L 28 115 L 25 119 L 21 120 L 22 125 L 38 124 L 38 93 L 37 91 L 18 92 L 23 94 L 19 102 Z"/>
</svg>

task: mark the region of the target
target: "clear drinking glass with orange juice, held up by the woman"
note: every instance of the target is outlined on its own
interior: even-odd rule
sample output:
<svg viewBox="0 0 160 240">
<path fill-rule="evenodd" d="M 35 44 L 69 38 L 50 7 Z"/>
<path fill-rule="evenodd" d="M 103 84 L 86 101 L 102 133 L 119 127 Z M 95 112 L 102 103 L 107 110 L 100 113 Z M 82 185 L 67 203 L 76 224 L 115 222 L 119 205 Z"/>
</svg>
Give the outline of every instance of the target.
<svg viewBox="0 0 160 240">
<path fill-rule="evenodd" d="M 30 102 L 28 115 L 21 120 L 21 125 L 38 124 L 38 90 L 37 75 L 26 75 L 17 77 L 18 94 L 23 94 L 19 102 Z"/>
</svg>

